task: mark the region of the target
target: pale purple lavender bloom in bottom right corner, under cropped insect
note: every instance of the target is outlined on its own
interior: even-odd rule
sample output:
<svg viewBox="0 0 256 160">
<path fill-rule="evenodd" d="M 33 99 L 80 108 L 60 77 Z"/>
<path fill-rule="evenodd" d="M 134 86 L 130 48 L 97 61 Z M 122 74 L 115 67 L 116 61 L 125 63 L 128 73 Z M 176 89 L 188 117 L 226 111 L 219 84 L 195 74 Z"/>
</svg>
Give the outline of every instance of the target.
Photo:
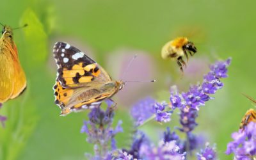
<svg viewBox="0 0 256 160">
<path fill-rule="evenodd" d="M 234 153 L 237 160 L 256 158 L 256 123 L 250 122 L 244 130 L 232 134 L 234 141 L 227 145 L 226 154 Z"/>
</svg>

